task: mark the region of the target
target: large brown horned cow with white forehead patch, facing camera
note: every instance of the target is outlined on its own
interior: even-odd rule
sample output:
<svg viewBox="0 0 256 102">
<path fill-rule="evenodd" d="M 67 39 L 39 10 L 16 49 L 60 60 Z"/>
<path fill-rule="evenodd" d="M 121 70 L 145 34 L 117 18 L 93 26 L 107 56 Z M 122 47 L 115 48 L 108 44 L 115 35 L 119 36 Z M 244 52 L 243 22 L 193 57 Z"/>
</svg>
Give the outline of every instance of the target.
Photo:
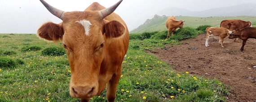
<svg viewBox="0 0 256 102">
<path fill-rule="evenodd" d="M 73 12 L 40 1 L 62 19 L 59 24 L 44 23 L 37 34 L 46 40 L 62 42 L 71 68 L 70 95 L 88 102 L 106 88 L 107 100 L 114 102 L 129 44 L 126 24 L 113 13 L 122 0 L 107 9 L 95 2 L 84 11 Z"/>
</svg>

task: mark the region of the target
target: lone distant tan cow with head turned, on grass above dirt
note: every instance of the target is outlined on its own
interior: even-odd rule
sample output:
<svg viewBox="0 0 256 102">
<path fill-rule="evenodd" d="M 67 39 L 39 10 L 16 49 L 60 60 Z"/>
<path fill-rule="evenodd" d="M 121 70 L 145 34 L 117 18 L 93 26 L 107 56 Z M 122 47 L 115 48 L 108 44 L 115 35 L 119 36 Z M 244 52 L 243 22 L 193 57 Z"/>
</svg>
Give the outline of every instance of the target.
<svg viewBox="0 0 256 102">
<path fill-rule="evenodd" d="M 167 34 L 167 38 L 169 37 L 170 31 L 172 31 L 172 35 L 173 32 L 177 29 L 177 28 L 183 28 L 183 25 L 185 21 L 176 21 L 176 18 L 174 16 L 172 17 L 168 17 L 166 22 L 165 22 L 165 26 L 168 29 L 168 34 Z"/>
</svg>

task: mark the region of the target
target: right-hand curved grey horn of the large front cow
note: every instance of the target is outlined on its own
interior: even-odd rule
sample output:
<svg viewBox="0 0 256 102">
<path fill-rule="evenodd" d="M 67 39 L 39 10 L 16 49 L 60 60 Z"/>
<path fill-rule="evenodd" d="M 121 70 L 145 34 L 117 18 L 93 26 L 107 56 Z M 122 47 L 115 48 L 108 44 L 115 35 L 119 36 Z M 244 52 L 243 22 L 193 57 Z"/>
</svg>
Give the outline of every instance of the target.
<svg viewBox="0 0 256 102">
<path fill-rule="evenodd" d="M 123 0 L 118 1 L 116 4 L 110 6 L 109 8 L 106 9 L 102 9 L 99 11 L 99 14 L 101 15 L 102 18 L 105 18 L 106 16 L 110 15 L 111 13 L 113 13 L 115 11 L 115 9 L 119 6 L 119 4 L 122 2 Z"/>
</svg>

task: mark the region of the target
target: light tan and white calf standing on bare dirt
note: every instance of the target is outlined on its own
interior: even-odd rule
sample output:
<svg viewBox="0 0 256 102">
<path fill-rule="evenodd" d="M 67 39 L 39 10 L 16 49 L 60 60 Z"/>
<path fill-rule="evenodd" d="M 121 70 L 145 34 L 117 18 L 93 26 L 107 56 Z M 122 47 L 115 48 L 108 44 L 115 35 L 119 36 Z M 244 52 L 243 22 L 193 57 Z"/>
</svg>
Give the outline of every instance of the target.
<svg viewBox="0 0 256 102">
<path fill-rule="evenodd" d="M 210 37 L 213 36 L 220 36 L 219 43 L 221 44 L 221 47 L 223 47 L 223 41 L 224 38 L 229 36 L 229 34 L 232 33 L 231 30 L 228 30 L 226 28 L 216 28 L 216 27 L 207 27 L 206 28 L 206 38 L 205 38 L 205 47 L 209 47 L 208 41 Z"/>
</svg>

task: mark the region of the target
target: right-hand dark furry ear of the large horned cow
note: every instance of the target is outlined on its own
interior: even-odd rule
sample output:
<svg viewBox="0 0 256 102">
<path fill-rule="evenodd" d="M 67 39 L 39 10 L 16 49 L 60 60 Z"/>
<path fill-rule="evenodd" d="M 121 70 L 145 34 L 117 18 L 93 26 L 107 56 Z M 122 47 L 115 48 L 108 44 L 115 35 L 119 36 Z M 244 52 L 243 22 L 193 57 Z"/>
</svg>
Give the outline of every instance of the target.
<svg viewBox="0 0 256 102">
<path fill-rule="evenodd" d="M 119 21 L 109 21 L 104 25 L 106 38 L 117 38 L 124 34 L 125 27 Z"/>
</svg>

